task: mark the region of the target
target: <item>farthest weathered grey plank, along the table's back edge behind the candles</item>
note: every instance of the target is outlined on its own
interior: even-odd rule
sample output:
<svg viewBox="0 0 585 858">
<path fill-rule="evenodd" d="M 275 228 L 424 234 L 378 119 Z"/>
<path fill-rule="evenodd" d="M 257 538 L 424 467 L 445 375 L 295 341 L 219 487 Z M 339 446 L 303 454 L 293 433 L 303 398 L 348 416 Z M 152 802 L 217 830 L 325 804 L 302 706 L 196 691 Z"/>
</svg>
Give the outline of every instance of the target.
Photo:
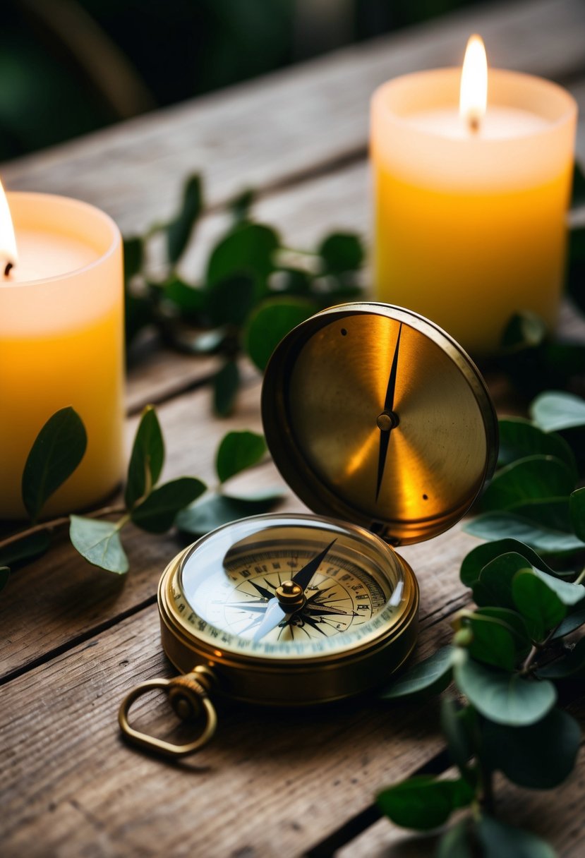
<svg viewBox="0 0 585 858">
<path fill-rule="evenodd" d="M 10 188 L 79 196 L 136 232 L 171 215 L 190 172 L 204 172 L 217 204 L 244 185 L 268 189 L 361 157 L 373 89 L 461 63 L 469 33 L 483 34 L 493 65 L 562 78 L 583 69 L 584 26 L 581 0 L 464 9 L 28 156 L 2 175 Z"/>
</svg>

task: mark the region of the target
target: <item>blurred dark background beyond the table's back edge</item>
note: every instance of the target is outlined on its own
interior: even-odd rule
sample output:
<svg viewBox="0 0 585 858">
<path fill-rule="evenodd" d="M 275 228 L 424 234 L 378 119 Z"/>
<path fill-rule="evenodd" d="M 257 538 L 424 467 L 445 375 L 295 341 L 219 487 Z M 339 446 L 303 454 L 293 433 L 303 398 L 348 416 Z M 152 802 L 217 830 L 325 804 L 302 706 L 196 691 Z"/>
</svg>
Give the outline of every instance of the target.
<svg viewBox="0 0 585 858">
<path fill-rule="evenodd" d="M 2 0 L 0 159 L 473 0 Z"/>
</svg>

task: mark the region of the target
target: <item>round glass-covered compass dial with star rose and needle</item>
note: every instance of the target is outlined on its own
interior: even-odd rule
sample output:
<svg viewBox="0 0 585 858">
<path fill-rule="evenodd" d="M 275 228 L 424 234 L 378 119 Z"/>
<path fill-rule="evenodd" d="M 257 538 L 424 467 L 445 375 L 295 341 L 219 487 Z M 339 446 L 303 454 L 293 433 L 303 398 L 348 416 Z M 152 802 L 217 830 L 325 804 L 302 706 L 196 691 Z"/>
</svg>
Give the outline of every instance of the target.
<svg viewBox="0 0 585 858">
<path fill-rule="evenodd" d="M 298 601 L 283 601 L 296 587 Z M 366 644 L 405 607 L 395 553 L 367 531 L 326 519 L 260 516 L 190 549 L 172 589 L 181 622 L 218 650 L 326 656 Z"/>
</svg>

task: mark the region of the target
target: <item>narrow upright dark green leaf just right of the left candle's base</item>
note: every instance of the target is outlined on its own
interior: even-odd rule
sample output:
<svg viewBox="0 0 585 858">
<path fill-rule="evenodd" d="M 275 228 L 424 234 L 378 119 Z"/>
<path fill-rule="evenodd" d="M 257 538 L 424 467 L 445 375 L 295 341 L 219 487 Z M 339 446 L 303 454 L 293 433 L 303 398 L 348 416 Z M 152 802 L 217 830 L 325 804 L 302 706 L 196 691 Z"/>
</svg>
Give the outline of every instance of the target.
<svg viewBox="0 0 585 858">
<path fill-rule="evenodd" d="M 165 462 L 165 442 L 159 419 L 152 405 L 142 412 L 136 430 L 124 499 L 129 510 L 151 490 L 160 477 Z"/>
</svg>

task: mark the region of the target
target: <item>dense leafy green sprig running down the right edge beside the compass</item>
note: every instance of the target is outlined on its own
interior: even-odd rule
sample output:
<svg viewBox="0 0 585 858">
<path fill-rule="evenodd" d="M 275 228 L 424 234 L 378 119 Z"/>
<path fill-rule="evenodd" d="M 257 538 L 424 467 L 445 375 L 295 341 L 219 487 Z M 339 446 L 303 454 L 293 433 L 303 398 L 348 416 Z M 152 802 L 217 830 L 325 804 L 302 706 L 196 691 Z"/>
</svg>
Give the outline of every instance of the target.
<svg viewBox="0 0 585 858">
<path fill-rule="evenodd" d="M 495 819 L 493 776 L 552 789 L 570 775 L 581 741 L 557 703 L 559 686 L 585 677 L 585 637 L 576 638 L 585 625 L 585 489 L 576 487 L 575 456 L 585 404 L 546 393 L 531 416 L 500 420 L 500 468 L 482 498 L 486 511 L 466 526 L 492 540 L 461 564 L 475 607 L 455 616 L 451 645 L 382 692 L 417 701 L 452 683 L 458 692 L 441 704 L 458 775 L 413 777 L 377 796 L 397 825 L 419 831 L 468 809 L 442 832 L 437 858 L 552 858 L 548 843 Z"/>
</svg>

